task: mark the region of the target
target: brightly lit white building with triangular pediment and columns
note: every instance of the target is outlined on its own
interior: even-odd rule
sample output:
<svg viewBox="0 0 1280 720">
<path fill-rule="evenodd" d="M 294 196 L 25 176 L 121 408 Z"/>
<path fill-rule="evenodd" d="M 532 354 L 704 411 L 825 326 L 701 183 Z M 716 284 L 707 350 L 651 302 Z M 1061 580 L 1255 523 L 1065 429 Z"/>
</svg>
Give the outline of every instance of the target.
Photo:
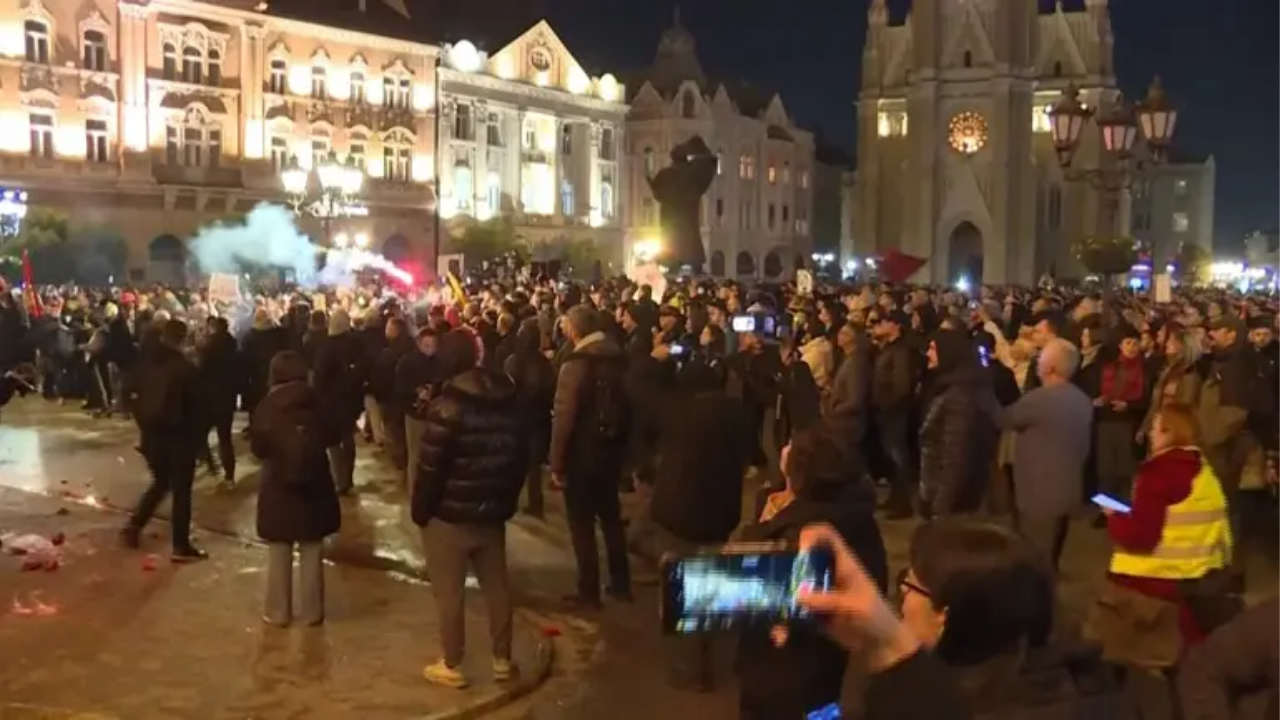
<svg viewBox="0 0 1280 720">
<path fill-rule="evenodd" d="M 612 74 L 588 76 L 547 22 L 486 54 L 445 45 L 440 215 L 506 217 L 535 254 L 591 240 L 622 258 L 626 104 Z"/>
</svg>

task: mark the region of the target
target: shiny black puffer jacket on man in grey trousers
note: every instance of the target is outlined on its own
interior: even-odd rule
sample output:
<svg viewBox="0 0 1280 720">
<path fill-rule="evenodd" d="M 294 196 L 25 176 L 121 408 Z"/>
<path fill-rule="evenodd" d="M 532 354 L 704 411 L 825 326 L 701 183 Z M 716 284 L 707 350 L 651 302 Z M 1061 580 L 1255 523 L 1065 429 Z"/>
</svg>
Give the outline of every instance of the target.
<svg viewBox="0 0 1280 720">
<path fill-rule="evenodd" d="M 413 523 L 497 524 L 516 514 L 529 441 L 516 386 L 481 368 L 444 383 L 426 411 Z"/>
</svg>

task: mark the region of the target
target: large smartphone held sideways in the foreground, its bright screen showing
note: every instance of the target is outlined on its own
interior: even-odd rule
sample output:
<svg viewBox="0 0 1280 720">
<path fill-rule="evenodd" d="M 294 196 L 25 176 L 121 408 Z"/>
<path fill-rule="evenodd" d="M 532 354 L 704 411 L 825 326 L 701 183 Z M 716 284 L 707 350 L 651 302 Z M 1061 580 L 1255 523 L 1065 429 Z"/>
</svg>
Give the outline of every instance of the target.
<svg viewBox="0 0 1280 720">
<path fill-rule="evenodd" d="M 769 626 L 809 619 L 801 589 L 832 587 L 826 550 L 788 543 L 731 543 L 716 552 L 663 559 L 662 626 L 668 634 Z"/>
</svg>

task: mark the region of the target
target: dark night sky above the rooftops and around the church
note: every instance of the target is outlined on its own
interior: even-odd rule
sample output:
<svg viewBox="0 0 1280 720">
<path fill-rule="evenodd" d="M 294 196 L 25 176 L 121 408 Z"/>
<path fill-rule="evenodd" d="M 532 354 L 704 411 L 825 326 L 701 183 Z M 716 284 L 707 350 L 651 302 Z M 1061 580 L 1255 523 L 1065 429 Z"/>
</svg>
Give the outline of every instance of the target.
<svg viewBox="0 0 1280 720">
<path fill-rule="evenodd" d="M 951 0 L 963 1 L 963 0 Z M 1051 0 L 1042 0 L 1048 1 Z M 534 0 L 593 73 L 653 59 L 675 0 Z M 890 0 L 900 18 L 909 0 Z M 1083 4 L 1068 0 L 1066 8 Z M 782 94 L 804 127 L 854 150 L 867 0 L 682 0 L 708 74 Z M 1217 243 L 1236 251 L 1275 228 L 1280 205 L 1276 0 L 1112 0 L 1116 65 L 1129 97 L 1160 74 L 1181 110 L 1175 146 L 1217 163 Z"/>
</svg>

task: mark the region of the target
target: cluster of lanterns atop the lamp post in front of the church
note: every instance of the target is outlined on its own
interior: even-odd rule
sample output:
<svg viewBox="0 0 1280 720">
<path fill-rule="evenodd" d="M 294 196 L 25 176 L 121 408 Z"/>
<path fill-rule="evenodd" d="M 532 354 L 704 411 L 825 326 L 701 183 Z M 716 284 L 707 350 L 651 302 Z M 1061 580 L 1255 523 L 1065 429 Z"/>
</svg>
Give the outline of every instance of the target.
<svg viewBox="0 0 1280 720">
<path fill-rule="evenodd" d="M 1079 149 L 1084 123 L 1094 115 L 1097 115 L 1094 122 L 1102 133 L 1102 146 L 1111 161 L 1097 168 L 1074 168 L 1071 160 Z M 1103 196 L 1111 227 L 1115 228 L 1121 199 L 1137 176 L 1146 172 L 1149 165 L 1165 161 L 1174 138 L 1174 128 L 1178 126 L 1178 110 L 1165 99 L 1160 78 L 1152 81 L 1146 100 L 1128 105 L 1123 97 L 1116 97 L 1115 102 L 1097 113 L 1080 102 L 1080 91 L 1070 86 L 1050 108 L 1048 117 L 1053 149 L 1057 151 L 1062 174 L 1070 182 L 1089 183 Z M 1147 150 L 1143 156 L 1134 152 L 1139 135 Z M 1128 222 L 1123 224 L 1128 225 Z"/>
</svg>

